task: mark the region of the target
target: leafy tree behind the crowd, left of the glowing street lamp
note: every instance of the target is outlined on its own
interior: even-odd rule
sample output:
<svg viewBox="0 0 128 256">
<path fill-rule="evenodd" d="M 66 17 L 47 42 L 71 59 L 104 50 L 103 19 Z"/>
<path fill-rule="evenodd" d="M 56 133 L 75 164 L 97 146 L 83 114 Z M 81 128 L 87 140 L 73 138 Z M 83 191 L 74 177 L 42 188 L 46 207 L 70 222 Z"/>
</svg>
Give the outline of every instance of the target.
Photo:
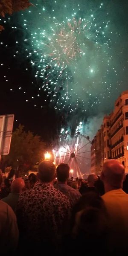
<svg viewBox="0 0 128 256">
<path fill-rule="evenodd" d="M 41 141 L 40 136 L 34 136 L 30 131 L 25 132 L 23 128 L 23 125 L 19 125 L 12 134 L 10 152 L 4 160 L 14 168 L 27 171 L 43 160 L 45 143 Z"/>
</svg>

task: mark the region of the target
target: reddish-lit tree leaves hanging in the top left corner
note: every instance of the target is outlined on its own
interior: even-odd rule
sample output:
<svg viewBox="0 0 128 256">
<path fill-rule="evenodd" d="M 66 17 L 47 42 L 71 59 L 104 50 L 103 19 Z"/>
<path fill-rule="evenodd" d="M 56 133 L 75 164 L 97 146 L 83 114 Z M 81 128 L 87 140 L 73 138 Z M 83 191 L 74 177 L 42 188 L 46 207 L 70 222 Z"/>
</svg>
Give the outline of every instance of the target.
<svg viewBox="0 0 128 256">
<path fill-rule="evenodd" d="M 32 4 L 29 0 L 1 0 L 0 1 L 0 16 L 5 17 L 5 14 L 12 15 L 13 12 L 18 12 L 29 8 Z M 0 31 L 4 29 L 0 25 Z"/>
</svg>

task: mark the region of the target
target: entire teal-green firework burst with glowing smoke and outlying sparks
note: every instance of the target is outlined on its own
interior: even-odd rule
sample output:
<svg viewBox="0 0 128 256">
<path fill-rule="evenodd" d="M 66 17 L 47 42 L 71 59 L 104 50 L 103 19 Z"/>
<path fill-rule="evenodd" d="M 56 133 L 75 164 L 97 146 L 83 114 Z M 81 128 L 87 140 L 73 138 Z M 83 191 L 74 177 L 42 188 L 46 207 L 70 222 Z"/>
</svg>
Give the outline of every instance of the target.
<svg viewBox="0 0 128 256">
<path fill-rule="evenodd" d="M 64 111 L 69 118 L 75 111 L 80 110 L 79 116 L 97 111 L 101 101 L 111 96 L 110 78 L 114 78 L 113 84 L 118 82 L 115 59 L 119 63 L 119 53 L 113 58 L 112 50 L 115 52 L 114 37 L 119 38 L 119 33 L 114 29 L 110 10 L 104 3 L 85 6 L 73 1 L 72 6 L 53 1 L 49 8 L 49 0 L 43 6 L 42 1 L 34 2 L 36 8 L 20 14 L 26 32 L 24 58 L 31 62 L 36 79 L 32 84 L 38 87 L 40 98 L 41 93 L 46 93 L 39 106 L 43 110 L 45 104 L 50 104 L 57 113 Z M 19 44 L 16 41 L 14 58 L 18 57 Z M 14 92 L 12 87 L 10 90 Z M 33 102 L 36 107 L 37 98 L 31 96 L 31 90 L 25 93 L 26 104 Z"/>
</svg>

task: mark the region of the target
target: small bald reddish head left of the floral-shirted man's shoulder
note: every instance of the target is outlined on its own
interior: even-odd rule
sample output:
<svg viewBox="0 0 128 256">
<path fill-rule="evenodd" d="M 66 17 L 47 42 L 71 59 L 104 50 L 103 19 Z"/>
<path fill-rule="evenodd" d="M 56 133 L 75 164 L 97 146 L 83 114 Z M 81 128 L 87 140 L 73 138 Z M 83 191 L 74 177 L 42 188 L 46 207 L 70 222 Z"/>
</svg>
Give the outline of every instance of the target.
<svg viewBox="0 0 128 256">
<path fill-rule="evenodd" d="M 24 186 L 24 180 L 22 178 L 16 178 L 14 181 L 12 181 L 11 192 L 20 194 L 23 192 Z"/>
</svg>

